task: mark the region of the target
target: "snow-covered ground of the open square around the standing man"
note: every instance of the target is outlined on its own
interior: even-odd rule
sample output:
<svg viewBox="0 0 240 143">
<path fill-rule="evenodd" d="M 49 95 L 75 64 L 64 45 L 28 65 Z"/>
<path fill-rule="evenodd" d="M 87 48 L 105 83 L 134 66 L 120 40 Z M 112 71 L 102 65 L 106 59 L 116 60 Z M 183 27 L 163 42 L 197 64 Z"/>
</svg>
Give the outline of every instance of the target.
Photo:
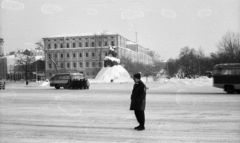
<svg viewBox="0 0 240 143">
<path fill-rule="evenodd" d="M 0 142 L 240 142 L 239 94 L 225 94 L 207 78 L 146 85 L 146 130 L 135 131 L 133 83 L 93 83 L 90 90 L 7 83 L 0 90 Z"/>
</svg>

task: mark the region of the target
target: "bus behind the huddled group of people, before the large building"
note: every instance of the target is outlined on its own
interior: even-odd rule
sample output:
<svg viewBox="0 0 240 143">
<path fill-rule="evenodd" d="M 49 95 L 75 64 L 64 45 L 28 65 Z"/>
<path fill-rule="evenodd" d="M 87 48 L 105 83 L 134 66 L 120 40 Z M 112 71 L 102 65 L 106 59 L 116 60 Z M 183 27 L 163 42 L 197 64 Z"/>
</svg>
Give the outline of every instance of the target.
<svg viewBox="0 0 240 143">
<path fill-rule="evenodd" d="M 59 73 L 55 74 L 50 78 L 50 86 L 60 89 L 61 87 L 66 88 L 66 84 L 69 79 L 84 79 L 82 73 Z"/>
</svg>

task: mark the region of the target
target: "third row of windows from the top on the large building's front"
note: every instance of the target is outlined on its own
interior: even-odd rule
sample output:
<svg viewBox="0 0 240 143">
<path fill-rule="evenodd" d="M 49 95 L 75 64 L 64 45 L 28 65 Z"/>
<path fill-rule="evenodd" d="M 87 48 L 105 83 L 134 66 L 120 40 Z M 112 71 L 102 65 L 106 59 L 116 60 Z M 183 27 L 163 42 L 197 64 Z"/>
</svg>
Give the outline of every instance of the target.
<svg viewBox="0 0 240 143">
<path fill-rule="evenodd" d="M 102 62 L 85 62 L 85 67 L 89 68 L 90 67 L 90 63 L 92 63 L 92 67 L 102 67 Z M 64 63 L 60 63 L 60 68 L 64 68 Z M 71 68 L 71 63 L 66 63 L 66 68 Z M 53 64 L 49 63 L 48 64 L 48 68 L 52 69 L 53 68 Z M 72 68 L 77 68 L 77 63 L 72 63 Z M 84 68 L 83 66 L 83 62 L 79 62 L 79 68 Z"/>
</svg>

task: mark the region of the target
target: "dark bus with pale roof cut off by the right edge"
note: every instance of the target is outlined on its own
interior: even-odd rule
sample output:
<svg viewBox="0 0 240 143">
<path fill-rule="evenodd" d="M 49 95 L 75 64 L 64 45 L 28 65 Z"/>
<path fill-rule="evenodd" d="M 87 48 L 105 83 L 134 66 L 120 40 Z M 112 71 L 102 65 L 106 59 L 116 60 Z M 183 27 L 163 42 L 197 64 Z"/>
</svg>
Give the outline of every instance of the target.
<svg viewBox="0 0 240 143">
<path fill-rule="evenodd" d="M 215 65 L 213 86 L 222 88 L 229 94 L 240 93 L 240 63 Z"/>
</svg>

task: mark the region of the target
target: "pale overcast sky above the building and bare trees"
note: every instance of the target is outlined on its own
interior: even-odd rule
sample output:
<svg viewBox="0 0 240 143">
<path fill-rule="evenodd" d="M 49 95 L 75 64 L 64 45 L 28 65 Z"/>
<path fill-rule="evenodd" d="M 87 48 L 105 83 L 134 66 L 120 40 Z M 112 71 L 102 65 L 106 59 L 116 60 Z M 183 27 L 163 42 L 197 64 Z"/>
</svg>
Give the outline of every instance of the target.
<svg viewBox="0 0 240 143">
<path fill-rule="evenodd" d="M 240 0 L 0 0 L 4 51 L 35 48 L 43 37 L 106 30 L 176 58 L 180 49 L 206 54 L 228 30 L 240 31 Z"/>
</svg>

